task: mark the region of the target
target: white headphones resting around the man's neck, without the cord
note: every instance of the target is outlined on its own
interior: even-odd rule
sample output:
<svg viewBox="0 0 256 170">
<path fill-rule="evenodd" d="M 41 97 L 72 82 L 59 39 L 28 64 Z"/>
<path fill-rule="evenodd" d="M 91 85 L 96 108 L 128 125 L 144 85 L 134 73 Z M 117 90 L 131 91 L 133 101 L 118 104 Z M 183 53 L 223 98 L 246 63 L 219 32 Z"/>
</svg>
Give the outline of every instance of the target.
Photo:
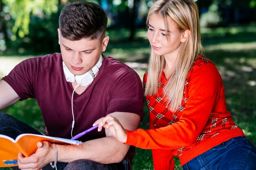
<svg viewBox="0 0 256 170">
<path fill-rule="evenodd" d="M 74 75 L 70 70 L 68 70 L 64 61 L 62 62 L 63 71 L 67 82 L 74 83 L 76 81 L 77 84 L 81 84 L 81 86 L 87 86 L 94 80 L 97 72 L 99 72 L 99 68 L 101 67 L 103 57 L 100 55 L 99 61 L 96 65 L 93 66 L 91 70 L 82 75 Z"/>
</svg>

